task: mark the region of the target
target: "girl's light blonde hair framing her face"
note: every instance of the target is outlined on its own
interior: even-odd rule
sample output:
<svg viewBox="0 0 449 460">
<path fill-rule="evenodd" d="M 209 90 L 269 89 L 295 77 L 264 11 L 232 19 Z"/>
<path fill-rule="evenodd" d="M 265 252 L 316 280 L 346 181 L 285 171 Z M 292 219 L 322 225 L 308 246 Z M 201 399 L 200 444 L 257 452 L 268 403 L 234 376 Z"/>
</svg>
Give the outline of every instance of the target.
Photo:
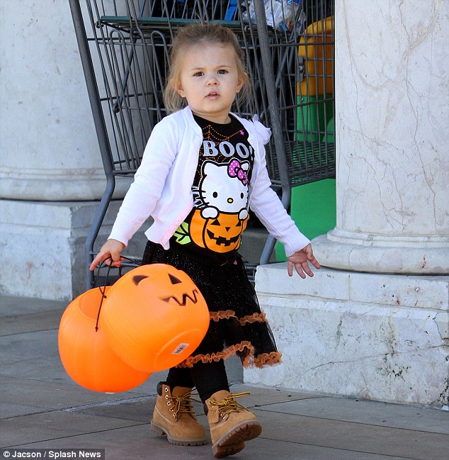
<svg viewBox="0 0 449 460">
<path fill-rule="evenodd" d="M 237 99 L 239 103 L 249 99 L 251 82 L 249 82 L 248 75 L 246 74 L 244 52 L 239 46 L 237 36 L 232 30 L 219 24 L 195 23 L 181 28 L 171 46 L 171 64 L 164 89 L 164 104 L 169 113 L 176 112 L 187 105 L 186 99 L 181 97 L 178 91 L 176 91 L 179 80 L 181 79 L 182 57 L 184 53 L 188 47 L 205 42 L 229 45 L 234 49 L 239 78 L 244 82 L 239 94 L 237 94 Z"/>
</svg>

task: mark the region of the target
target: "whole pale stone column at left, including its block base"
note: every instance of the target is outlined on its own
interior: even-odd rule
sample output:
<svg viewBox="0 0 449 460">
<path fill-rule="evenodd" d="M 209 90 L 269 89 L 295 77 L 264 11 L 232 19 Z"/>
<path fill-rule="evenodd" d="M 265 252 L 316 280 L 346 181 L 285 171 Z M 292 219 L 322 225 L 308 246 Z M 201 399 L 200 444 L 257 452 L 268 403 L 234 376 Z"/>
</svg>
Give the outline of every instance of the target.
<svg viewBox="0 0 449 460">
<path fill-rule="evenodd" d="M 0 293 L 69 300 L 106 179 L 68 2 L 1 2 L 0 43 Z"/>
</svg>

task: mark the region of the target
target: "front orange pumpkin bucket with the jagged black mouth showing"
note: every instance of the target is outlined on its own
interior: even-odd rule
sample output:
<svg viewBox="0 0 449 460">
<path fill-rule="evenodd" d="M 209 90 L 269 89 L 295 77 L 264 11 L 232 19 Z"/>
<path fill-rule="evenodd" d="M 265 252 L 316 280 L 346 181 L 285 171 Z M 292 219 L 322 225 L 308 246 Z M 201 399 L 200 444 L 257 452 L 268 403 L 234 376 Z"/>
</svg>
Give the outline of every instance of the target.
<svg viewBox="0 0 449 460">
<path fill-rule="evenodd" d="M 199 289 L 186 273 L 167 264 L 128 271 L 110 288 L 101 314 L 110 347 L 143 372 L 181 363 L 209 327 Z"/>
</svg>

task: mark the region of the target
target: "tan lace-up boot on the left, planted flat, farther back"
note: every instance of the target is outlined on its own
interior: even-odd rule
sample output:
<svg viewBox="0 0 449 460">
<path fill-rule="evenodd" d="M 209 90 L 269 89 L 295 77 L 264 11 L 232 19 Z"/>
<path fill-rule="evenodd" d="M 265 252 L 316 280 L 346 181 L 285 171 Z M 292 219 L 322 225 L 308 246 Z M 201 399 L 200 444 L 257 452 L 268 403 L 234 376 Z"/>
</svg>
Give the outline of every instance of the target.
<svg viewBox="0 0 449 460">
<path fill-rule="evenodd" d="M 152 432 L 166 434 L 168 442 L 178 446 L 203 446 L 208 442 L 205 429 L 193 412 L 191 392 L 192 388 L 182 386 L 176 386 L 171 392 L 168 385 L 159 383 Z"/>
</svg>

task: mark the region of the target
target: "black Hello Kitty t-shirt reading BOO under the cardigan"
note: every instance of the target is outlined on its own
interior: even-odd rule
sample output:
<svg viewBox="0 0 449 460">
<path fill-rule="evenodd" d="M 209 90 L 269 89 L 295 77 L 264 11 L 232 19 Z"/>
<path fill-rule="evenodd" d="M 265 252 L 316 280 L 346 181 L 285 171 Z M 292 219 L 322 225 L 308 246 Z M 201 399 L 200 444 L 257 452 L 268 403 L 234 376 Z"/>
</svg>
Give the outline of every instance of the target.
<svg viewBox="0 0 449 460">
<path fill-rule="evenodd" d="M 249 181 L 254 149 L 243 125 L 212 123 L 194 116 L 203 143 L 192 184 L 194 206 L 178 227 L 170 245 L 195 259 L 220 264 L 235 256 L 248 220 Z"/>
</svg>

